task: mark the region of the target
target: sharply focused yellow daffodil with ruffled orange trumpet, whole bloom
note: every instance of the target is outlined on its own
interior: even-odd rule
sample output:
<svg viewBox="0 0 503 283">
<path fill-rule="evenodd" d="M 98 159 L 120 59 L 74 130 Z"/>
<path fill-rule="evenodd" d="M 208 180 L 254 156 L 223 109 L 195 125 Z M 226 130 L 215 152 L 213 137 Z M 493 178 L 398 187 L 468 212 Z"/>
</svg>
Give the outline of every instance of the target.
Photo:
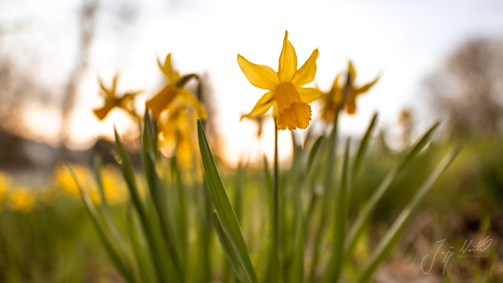
<svg viewBox="0 0 503 283">
<path fill-rule="evenodd" d="M 269 90 L 253 110 L 243 117 L 262 115 L 273 107 L 279 130 L 305 129 L 311 120 L 311 106 L 308 103 L 319 98 L 321 92 L 313 87 L 301 86 L 313 81 L 318 54 L 318 49 L 315 49 L 304 65 L 297 69 L 297 54 L 288 40 L 288 31 L 283 40 L 278 72 L 271 67 L 251 63 L 237 54 L 237 63 L 248 81 L 256 87 Z"/>
</svg>

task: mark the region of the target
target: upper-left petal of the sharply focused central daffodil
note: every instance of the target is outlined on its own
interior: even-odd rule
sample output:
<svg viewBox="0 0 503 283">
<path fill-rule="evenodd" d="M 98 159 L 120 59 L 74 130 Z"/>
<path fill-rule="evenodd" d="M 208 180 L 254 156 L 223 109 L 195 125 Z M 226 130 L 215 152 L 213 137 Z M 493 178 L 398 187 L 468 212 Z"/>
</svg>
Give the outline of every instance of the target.
<svg viewBox="0 0 503 283">
<path fill-rule="evenodd" d="M 248 81 L 258 88 L 272 90 L 280 83 L 278 74 L 271 67 L 251 63 L 239 54 L 237 63 Z"/>
</svg>

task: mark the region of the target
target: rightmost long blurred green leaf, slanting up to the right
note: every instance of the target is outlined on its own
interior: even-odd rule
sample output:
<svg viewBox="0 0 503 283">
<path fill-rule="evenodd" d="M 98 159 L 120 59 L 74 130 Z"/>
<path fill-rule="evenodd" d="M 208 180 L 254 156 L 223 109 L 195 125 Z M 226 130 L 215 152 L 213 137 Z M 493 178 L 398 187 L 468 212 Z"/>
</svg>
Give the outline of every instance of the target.
<svg viewBox="0 0 503 283">
<path fill-rule="evenodd" d="M 417 210 L 426 194 L 430 191 L 430 188 L 435 181 L 445 171 L 449 164 L 451 164 L 459 150 L 460 147 L 457 146 L 447 153 L 430 176 L 423 182 L 423 184 L 421 184 L 420 188 L 418 188 L 410 202 L 402 210 L 393 225 L 389 228 L 388 232 L 384 235 L 383 239 L 379 242 L 376 249 L 372 252 L 369 262 L 364 267 L 363 272 L 360 273 L 360 277 L 358 278 L 359 283 L 367 282 L 379 264 L 391 253 L 393 246 L 412 219 L 414 212 Z"/>
</svg>

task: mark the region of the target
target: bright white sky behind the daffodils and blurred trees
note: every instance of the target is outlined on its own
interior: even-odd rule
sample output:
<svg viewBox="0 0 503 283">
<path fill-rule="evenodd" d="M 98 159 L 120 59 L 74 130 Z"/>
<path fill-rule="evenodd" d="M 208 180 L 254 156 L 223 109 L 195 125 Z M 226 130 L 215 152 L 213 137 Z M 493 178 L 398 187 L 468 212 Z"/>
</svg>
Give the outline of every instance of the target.
<svg viewBox="0 0 503 283">
<path fill-rule="evenodd" d="M 7 29 L 28 23 L 21 33 L 0 38 L 2 54 L 18 56 L 20 64 L 32 68 L 39 81 L 54 89 L 56 97 L 62 95 L 75 62 L 80 4 L 80 0 L 4 0 L 0 4 L 0 23 Z M 131 23 L 120 20 L 120 15 L 131 14 L 135 15 Z M 348 59 L 356 66 L 359 83 L 382 72 L 377 85 L 357 101 L 358 113 L 343 115 L 343 134 L 361 135 L 375 111 L 380 113 L 380 125 L 392 127 L 404 107 L 415 110 L 423 130 L 433 118 L 418 107 L 425 104 L 422 79 L 467 39 L 501 37 L 501 19 L 503 2 L 481 0 L 102 0 L 91 62 L 73 117 L 72 143 L 77 148 L 89 147 L 99 135 L 111 137 L 114 123 L 123 131 L 129 125 L 119 112 L 103 123 L 93 117 L 91 110 L 103 103 L 97 94 L 98 75 L 107 83 L 120 72 L 119 92 L 143 89 L 145 100 L 161 87 L 156 55 L 163 58 L 171 52 L 182 74 L 209 74 L 227 160 L 236 163 L 250 149 L 254 156 L 258 151 L 272 156 L 272 121 L 266 124 L 263 146 L 253 138 L 254 124 L 239 123 L 240 114 L 249 112 L 265 91 L 248 83 L 236 55 L 277 70 L 285 30 L 299 66 L 319 48 L 315 82 L 324 90 L 346 69 Z M 313 106 L 313 120 L 318 109 Z M 60 119 L 55 109 L 27 106 L 27 127 L 41 140 L 55 142 Z M 290 150 L 290 133 L 282 132 L 280 155 L 288 157 Z"/>
</svg>

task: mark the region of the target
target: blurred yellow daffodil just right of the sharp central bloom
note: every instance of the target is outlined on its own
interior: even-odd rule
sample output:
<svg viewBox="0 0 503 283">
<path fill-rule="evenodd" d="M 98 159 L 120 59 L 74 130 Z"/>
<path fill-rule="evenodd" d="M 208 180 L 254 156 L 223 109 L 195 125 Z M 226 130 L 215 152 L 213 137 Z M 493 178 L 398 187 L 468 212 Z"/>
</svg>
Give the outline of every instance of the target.
<svg viewBox="0 0 503 283">
<path fill-rule="evenodd" d="M 331 122 L 334 121 L 338 112 L 346 107 L 346 112 L 348 114 L 356 113 L 356 98 L 362 93 L 367 92 L 370 87 L 372 87 L 378 80 L 379 76 L 373 81 L 358 87 L 355 85 L 356 71 L 353 63 L 349 61 L 348 63 L 348 73 L 346 85 L 341 87 L 339 84 L 339 77 L 341 74 L 336 76 L 333 80 L 332 87 L 330 91 L 323 92 L 322 107 L 321 107 L 321 119 Z"/>
</svg>

